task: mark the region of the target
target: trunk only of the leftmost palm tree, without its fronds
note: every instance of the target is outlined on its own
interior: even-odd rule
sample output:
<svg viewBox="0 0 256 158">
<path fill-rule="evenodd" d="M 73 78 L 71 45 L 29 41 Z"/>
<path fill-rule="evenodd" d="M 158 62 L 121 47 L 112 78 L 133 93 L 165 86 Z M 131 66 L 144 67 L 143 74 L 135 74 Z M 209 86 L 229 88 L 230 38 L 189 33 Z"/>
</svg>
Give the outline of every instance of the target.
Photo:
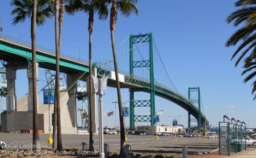
<svg viewBox="0 0 256 158">
<path fill-rule="evenodd" d="M 38 118 L 37 118 L 37 85 L 36 85 L 36 0 L 33 0 L 33 11 L 31 17 L 31 39 L 32 39 L 32 78 L 33 78 L 33 150 L 37 151 L 39 143 Z"/>
</svg>

